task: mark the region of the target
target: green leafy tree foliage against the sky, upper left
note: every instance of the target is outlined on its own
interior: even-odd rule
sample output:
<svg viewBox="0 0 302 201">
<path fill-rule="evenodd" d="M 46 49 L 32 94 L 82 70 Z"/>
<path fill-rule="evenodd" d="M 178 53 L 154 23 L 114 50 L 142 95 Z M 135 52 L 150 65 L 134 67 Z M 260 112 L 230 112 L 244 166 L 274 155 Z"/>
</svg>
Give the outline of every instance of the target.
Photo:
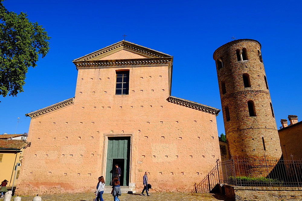
<svg viewBox="0 0 302 201">
<path fill-rule="evenodd" d="M 27 14 L 6 10 L 0 0 L 0 95 L 16 96 L 23 91 L 28 67 L 35 67 L 39 55 L 46 56 L 49 36 Z"/>
</svg>

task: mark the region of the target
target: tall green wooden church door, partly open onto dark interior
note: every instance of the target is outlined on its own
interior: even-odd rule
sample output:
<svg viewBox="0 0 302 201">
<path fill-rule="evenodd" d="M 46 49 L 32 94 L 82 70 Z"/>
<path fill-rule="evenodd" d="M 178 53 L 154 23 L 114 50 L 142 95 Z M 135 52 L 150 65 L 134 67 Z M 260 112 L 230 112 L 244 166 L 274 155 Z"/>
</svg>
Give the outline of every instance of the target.
<svg viewBox="0 0 302 201">
<path fill-rule="evenodd" d="M 114 176 L 114 166 L 118 164 L 122 174 L 121 185 L 129 184 L 130 137 L 108 137 L 106 185 L 111 184 Z"/>
</svg>

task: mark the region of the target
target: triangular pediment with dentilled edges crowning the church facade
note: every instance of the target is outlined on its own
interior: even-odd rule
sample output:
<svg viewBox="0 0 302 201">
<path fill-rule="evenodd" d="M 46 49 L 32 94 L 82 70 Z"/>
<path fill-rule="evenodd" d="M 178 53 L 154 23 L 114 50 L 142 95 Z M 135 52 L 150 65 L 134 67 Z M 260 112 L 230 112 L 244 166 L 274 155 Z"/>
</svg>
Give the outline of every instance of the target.
<svg viewBox="0 0 302 201">
<path fill-rule="evenodd" d="M 75 61 L 96 61 L 96 60 L 120 60 L 120 59 L 143 59 L 143 58 L 163 58 L 172 57 L 150 48 L 134 44 L 129 41 L 120 41 L 109 45 L 100 50 L 94 51 L 83 57 L 79 57 Z"/>
</svg>

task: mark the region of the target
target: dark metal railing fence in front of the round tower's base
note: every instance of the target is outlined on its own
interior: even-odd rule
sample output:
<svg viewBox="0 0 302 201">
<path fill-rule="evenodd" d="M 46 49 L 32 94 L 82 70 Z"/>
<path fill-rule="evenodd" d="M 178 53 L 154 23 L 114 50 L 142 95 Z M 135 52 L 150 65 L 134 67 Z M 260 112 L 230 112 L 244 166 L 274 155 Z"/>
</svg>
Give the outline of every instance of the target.
<svg viewBox="0 0 302 201">
<path fill-rule="evenodd" d="M 234 186 L 302 187 L 302 160 L 275 160 L 265 156 L 258 159 L 231 156 L 209 172 L 193 192 L 210 193 L 218 184 Z"/>
</svg>

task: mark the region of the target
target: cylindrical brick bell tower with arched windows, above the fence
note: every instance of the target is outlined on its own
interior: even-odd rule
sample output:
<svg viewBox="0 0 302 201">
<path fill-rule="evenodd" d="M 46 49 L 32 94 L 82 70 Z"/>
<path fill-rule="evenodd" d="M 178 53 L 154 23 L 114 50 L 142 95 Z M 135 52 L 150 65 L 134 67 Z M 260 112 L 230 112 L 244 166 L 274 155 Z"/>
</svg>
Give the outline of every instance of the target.
<svg viewBox="0 0 302 201">
<path fill-rule="evenodd" d="M 280 159 L 275 115 L 261 56 L 261 44 L 239 39 L 220 46 L 216 61 L 224 127 L 230 154 Z"/>
</svg>

